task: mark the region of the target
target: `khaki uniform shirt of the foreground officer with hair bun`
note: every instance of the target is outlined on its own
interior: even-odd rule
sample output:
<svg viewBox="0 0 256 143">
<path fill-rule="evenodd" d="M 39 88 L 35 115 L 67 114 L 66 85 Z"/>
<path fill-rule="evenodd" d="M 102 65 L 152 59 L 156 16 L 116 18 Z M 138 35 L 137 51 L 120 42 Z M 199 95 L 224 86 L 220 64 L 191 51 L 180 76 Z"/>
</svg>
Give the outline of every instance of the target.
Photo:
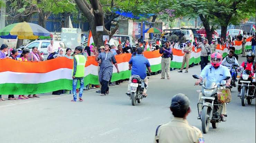
<svg viewBox="0 0 256 143">
<path fill-rule="evenodd" d="M 198 128 L 190 126 L 186 119 L 174 117 L 158 128 L 154 143 L 198 143 L 200 137 L 203 135 Z"/>
</svg>

